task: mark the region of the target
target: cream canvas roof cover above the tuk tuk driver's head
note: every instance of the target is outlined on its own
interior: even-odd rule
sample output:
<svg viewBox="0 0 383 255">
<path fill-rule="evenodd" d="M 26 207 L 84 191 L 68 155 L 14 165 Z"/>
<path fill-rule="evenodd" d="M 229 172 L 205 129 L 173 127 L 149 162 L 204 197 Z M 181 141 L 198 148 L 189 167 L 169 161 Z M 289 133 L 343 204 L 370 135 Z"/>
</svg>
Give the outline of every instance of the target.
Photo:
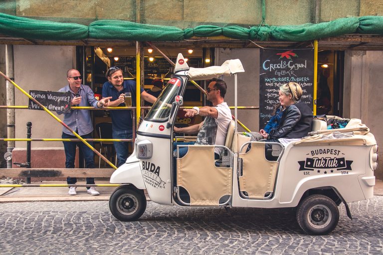
<svg viewBox="0 0 383 255">
<path fill-rule="evenodd" d="M 242 73 L 244 71 L 239 59 L 230 59 L 226 60 L 221 66 L 209 66 L 205 68 L 191 67 L 189 69 L 188 78 L 194 81 L 210 80 L 222 75 L 228 76 L 230 74 Z"/>
</svg>

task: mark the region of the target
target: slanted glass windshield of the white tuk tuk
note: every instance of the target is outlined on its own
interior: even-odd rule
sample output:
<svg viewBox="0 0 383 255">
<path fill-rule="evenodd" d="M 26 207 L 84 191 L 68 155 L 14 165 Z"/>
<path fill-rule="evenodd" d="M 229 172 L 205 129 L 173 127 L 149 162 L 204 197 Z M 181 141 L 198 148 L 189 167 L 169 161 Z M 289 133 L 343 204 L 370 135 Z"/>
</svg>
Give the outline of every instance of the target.
<svg viewBox="0 0 383 255">
<path fill-rule="evenodd" d="M 145 119 L 167 120 L 172 104 L 180 90 L 180 84 L 180 80 L 172 78 L 157 98 Z"/>
</svg>

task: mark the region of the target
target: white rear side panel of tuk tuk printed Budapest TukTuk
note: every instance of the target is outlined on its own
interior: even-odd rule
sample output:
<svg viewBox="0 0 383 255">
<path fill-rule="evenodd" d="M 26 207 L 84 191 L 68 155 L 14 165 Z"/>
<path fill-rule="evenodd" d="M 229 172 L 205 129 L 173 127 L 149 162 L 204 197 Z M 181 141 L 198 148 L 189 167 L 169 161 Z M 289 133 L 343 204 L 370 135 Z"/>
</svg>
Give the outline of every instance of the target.
<svg viewBox="0 0 383 255">
<path fill-rule="evenodd" d="M 279 165 L 275 194 L 278 202 L 296 206 L 305 191 L 319 187 L 334 187 L 346 202 L 371 198 L 374 187 L 359 178 L 374 176 L 366 160 L 370 149 L 371 146 L 305 147 L 290 143 Z"/>
</svg>

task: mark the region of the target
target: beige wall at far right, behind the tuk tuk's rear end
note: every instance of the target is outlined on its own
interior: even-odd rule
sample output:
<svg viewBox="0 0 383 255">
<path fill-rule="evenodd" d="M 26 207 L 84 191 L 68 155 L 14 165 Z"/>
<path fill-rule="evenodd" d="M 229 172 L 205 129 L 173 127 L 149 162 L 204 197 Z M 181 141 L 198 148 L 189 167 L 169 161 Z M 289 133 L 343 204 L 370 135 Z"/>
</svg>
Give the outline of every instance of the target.
<svg viewBox="0 0 383 255">
<path fill-rule="evenodd" d="M 378 145 L 383 144 L 382 81 L 383 51 L 346 51 L 344 118 L 361 119 L 375 135 Z M 378 179 L 383 179 L 383 153 L 378 152 L 379 168 L 375 171 Z"/>
</svg>

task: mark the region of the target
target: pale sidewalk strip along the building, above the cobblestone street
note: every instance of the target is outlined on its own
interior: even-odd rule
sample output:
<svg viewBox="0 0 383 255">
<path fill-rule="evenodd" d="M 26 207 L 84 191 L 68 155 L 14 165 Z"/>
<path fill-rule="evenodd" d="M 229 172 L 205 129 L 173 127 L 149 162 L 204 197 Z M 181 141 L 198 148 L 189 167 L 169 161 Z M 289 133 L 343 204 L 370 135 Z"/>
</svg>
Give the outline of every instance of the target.
<svg viewBox="0 0 383 255">
<path fill-rule="evenodd" d="M 96 184 L 109 184 L 109 181 L 95 181 Z M 34 184 L 66 184 L 66 181 L 44 181 Z M 77 184 L 86 184 L 77 181 Z M 100 192 L 92 196 L 86 192 L 86 187 L 77 187 L 77 195 L 68 195 L 68 187 L 5 187 L 0 188 L 0 203 L 31 202 L 31 201 L 108 201 L 110 195 L 117 187 L 96 187 Z M 383 196 L 383 181 L 376 180 L 374 195 Z M 148 199 L 148 197 L 147 197 Z"/>
</svg>

